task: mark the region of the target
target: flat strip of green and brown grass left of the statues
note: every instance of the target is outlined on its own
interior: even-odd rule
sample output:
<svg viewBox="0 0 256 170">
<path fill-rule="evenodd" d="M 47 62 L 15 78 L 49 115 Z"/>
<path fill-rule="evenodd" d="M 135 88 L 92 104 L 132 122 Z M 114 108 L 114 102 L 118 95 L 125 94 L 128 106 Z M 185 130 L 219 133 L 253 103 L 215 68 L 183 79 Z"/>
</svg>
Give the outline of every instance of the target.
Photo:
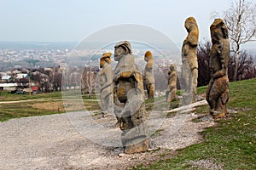
<svg viewBox="0 0 256 170">
<path fill-rule="evenodd" d="M 76 94 L 79 94 L 80 91 L 67 91 L 65 92 L 65 98 L 67 99 L 77 99 Z M 80 95 L 80 94 L 79 94 Z M 30 100 L 32 99 L 32 100 Z M 84 100 L 84 107 L 87 111 L 98 111 L 100 110 L 100 106 L 98 105 L 98 101 L 96 101 L 96 96 L 92 96 L 89 98 L 88 95 L 82 96 Z M 8 92 L 3 91 L 0 94 L 0 102 L 7 101 L 19 101 L 24 100 L 20 103 L 2 103 L 0 104 L 0 122 L 8 121 L 13 118 L 27 117 L 27 116 L 44 116 L 51 114 L 59 114 L 66 112 L 65 109 L 69 111 L 80 111 L 83 110 L 84 107 L 79 105 L 69 105 L 73 106 L 64 108 L 62 102 L 62 94 L 61 92 L 53 92 L 47 94 L 36 94 L 29 95 L 26 94 L 9 94 Z M 27 101 L 26 101 L 27 100 Z M 71 102 L 72 103 L 72 102 Z M 73 102 L 77 104 L 78 102 Z M 72 104 L 73 104 L 72 103 Z M 35 106 L 39 105 L 39 106 Z M 42 106 L 44 105 L 44 106 Z M 60 110 L 58 111 L 58 108 Z M 80 110 L 79 110 L 80 109 Z"/>
</svg>

